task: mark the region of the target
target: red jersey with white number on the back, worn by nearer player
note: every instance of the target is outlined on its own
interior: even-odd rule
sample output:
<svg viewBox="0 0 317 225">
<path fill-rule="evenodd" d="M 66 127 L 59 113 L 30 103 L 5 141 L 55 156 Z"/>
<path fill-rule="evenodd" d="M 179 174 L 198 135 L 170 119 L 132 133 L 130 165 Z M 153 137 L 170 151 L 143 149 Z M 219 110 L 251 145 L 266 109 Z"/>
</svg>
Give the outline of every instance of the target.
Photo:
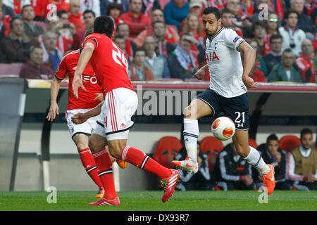
<svg viewBox="0 0 317 225">
<path fill-rule="evenodd" d="M 108 91 L 120 87 L 133 89 L 128 75 L 128 60 L 125 53 L 105 34 L 90 34 L 85 38 L 86 43 L 94 44 L 94 53 L 90 63 L 96 72 L 101 89 Z"/>
</svg>

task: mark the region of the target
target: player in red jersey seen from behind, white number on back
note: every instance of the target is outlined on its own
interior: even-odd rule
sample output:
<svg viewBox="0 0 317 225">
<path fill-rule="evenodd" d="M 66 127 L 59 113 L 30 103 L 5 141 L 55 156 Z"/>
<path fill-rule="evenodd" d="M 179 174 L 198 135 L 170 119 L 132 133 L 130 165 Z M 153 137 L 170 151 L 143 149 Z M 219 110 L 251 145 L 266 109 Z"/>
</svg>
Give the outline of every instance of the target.
<svg viewBox="0 0 317 225">
<path fill-rule="evenodd" d="M 173 194 L 180 173 L 175 169 L 163 167 L 142 150 L 127 146 L 129 129 L 134 124 L 131 117 L 137 110 L 137 94 L 128 77 L 128 61 L 125 54 L 111 39 L 113 28 L 113 20 L 106 15 L 94 21 L 94 34 L 85 38 L 84 49 L 74 74 L 74 95 L 78 97 L 79 88 L 86 90 L 81 77 L 85 66 L 90 62 L 96 72 L 98 84 L 105 90 L 105 101 L 98 124 L 104 129 L 110 154 L 159 176 L 164 189 L 162 201 L 165 203 Z M 104 119 L 102 124 L 101 118 Z M 99 150 L 92 155 L 99 169 L 101 182 L 107 191 L 104 198 L 89 205 L 120 205 L 113 184 L 113 174 L 109 172 L 111 160 L 108 151 Z"/>
</svg>

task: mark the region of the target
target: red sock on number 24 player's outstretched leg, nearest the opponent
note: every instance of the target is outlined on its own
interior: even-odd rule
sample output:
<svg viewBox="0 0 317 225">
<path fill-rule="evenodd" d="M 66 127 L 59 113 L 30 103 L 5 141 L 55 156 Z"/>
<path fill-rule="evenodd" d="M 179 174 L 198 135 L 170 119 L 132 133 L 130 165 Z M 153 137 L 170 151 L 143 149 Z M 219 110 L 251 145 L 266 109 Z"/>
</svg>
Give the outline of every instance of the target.
<svg viewBox="0 0 317 225">
<path fill-rule="evenodd" d="M 121 153 L 121 159 L 147 172 L 156 174 L 161 179 L 165 179 L 171 175 L 170 169 L 163 167 L 159 162 L 149 158 L 148 155 L 137 148 L 126 146 Z"/>
</svg>

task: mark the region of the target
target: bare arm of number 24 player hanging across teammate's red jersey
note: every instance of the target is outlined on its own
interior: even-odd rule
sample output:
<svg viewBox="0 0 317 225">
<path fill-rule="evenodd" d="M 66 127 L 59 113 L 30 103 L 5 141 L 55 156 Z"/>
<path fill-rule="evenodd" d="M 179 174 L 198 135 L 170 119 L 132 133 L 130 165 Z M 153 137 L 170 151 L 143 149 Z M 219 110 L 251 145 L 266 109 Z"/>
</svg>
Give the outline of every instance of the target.
<svg viewBox="0 0 317 225">
<path fill-rule="evenodd" d="M 73 94 L 78 98 L 78 88 L 82 88 L 86 91 L 84 84 L 82 84 L 82 77 L 81 74 L 85 70 L 87 63 L 89 62 L 90 58 L 92 58 L 92 53 L 94 52 L 94 45 L 91 43 L 86 43 L 84 49 L 80 53 L 80 58 L 78 60 L 77 69 L 74 73 L 73 79 Z"/>
</svg>

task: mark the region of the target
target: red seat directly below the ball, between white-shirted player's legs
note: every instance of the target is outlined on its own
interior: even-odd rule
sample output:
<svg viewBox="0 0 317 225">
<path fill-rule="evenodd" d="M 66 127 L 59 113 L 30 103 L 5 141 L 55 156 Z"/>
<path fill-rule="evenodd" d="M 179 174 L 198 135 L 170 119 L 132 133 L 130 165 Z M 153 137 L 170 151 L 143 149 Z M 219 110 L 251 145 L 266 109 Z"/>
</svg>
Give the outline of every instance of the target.
<svg viewBox="0 0 317 225">
<path fill-rule="evenodd" d="M 216 159 L 223 148 L 223 142 L 216 139 L 214 136 L 206 136 L 201 140 L 200 149 L 207 155 L 210 174 L 212 174 L 213 167 L 215 167 L 216 164 Z"/>
</svg>

